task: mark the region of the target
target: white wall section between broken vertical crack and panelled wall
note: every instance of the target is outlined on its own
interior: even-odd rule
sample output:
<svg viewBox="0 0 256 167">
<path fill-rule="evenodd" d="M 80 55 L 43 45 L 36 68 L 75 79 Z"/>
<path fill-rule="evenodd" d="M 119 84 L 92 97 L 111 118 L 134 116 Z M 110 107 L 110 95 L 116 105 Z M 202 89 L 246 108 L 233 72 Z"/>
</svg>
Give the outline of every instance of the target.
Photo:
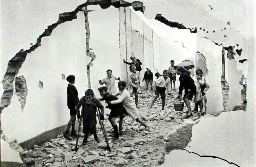
<svg viewBox="0 0 256 167">
<path fill-rule="evenodd" d="M 119 49 L 119 11 L 112 6 L 108 9 L 101 9 L 99 5 L 88 6 L 88 10 L 93 10 L 88 14 L 89 47 L 96 55 L 92 62 L 93 66 L 90 67 L 91 89 L 96 97 L 100 97 L 98 87 L 105 86 L 105 84 L 100 85 L 98 80 L 103 80 L 106 77 L 106 70 L 111 69 L 113 75 L 121 77 L 123 59 L 120 58 Z M 117 83 L 118 80 L 115 81 L 118 90 Z"/>
</svg>

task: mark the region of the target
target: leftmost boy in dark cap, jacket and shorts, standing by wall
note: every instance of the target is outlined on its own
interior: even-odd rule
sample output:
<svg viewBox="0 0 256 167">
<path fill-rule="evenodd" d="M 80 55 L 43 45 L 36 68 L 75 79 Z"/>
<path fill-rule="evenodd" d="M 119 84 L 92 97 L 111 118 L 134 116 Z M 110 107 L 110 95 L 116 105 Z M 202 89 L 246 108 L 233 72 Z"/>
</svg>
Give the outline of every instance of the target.
<svg viewBox="0 0 256 167">
<path fill-rule="evenodd" d="M 63 136 L 68 140 L 73 140 L 73 138 L 69 134 L 69 130 L 70 130 L 70 127 L 72 127 L 71 135 L 77 135 L 75 131 L 75 120 L 76 120 L 76 114 L 77 114 L 75 107 L 79 101 L 79 98 L 78 98 L 78 91 L 74 86 L 75 76 L 74 75 L 67 76 L 67 81 L 69 82 L 69 84 L 67 85 L 67 106 L 70 110 L 70 120 L 67 123 L 67 129 L 64 132 Z M 78 119 L 80 118 L 79 115 L 77 115 L 77 118 Z"/>
</svg>

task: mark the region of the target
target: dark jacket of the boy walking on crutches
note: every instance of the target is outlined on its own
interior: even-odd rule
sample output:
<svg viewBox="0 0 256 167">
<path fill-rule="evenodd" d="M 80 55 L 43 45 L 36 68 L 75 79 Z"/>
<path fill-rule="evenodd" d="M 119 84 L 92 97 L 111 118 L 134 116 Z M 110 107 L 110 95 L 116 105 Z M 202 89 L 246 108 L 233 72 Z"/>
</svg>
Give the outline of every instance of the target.
<svg viewBox="0 0 256 167">
<path fill-rule="evenodd" d="M 96 107 L 100 109 L 100 119 L 104 120 L 104 106 L 101 104 L 99 99 L 93 98 L 91 104 L 87 104 L 85 97 L 82 97 L 77 104 L 77 110 L 82 107 L 81 115 L 84 120 L 92 120 L 97 117 Z"/>
</svg>

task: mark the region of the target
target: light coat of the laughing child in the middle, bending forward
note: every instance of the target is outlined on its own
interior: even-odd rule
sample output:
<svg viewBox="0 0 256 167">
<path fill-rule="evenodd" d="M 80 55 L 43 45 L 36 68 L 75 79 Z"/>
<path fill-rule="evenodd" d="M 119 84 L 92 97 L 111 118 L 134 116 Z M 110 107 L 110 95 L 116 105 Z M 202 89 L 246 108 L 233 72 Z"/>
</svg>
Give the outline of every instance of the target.
<svg viewBox="0 0 256 167">
<path fill-rule="evenodd" d="M 135 81 L 135 84 L 132 82 Z M 136 73 L 131 72 L 128 75 L 128 92 L 130 93 L 130 95 L 133 93 L 133 87 L 138 86 L 137 88 L 137 92 L 140 93 L 140 72 L 136 71 Z"/>
</svg>

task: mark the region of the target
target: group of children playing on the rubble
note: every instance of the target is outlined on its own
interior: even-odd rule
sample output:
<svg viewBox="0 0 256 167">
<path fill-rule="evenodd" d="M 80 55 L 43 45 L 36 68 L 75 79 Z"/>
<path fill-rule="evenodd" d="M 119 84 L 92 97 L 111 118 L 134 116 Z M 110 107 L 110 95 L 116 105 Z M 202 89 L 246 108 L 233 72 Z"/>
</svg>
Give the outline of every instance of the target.
<svg viewBox="0 0 256 167">
<path fill-rule="evenodd" d="M 107 77 L 105 77 L 103 80 L 99 80 L 100 85 L 106 85 L 98 88 L 99 94 L 102 97 L 99 99 L 95 97 L 93 90 L 88 89 L 85 91 L 85 96 L 79 100 L 78 91 L 74 86 L 75 77 L 73 75 L 67 77 L 67 81 L 69 82 L 67 87 L 67 106 L 70 109 L 71 118 L 68 122 L 67 129 L 63 134 L 65 138 L 72 140 L 73 138 L 71 135 L 77 135 L 74 130 L 77 115 L 78 121 L 83 123 L 83 133 L 85 134 L 83 144 L 85 145 L 87 143 L 88 135 L 92 134 L 94 135 L 95 141 L 99 142 L 99 138 L 96 134 L 96 107 L 98 107 L 101 111 L 100 121 L 104 121 L 104 106 L 100 101 L 106 101 L 108 104 L 106 108 L 111 110 L 108 119 L 114 129 L 113 133 L 115 139 L 118 139 L 119 135 L 122 134 L 123 118 L 128 115 L 143 125 L 146 130 L 149 130 L 149 127 L 139 119 L 139 113 L 137 110 L 137 108 L 139 108 L 138 94 L 141 92 L 140 72 L 136 70 L 135 63 L 131 64 L 129 68 L 130 74 L 128 75 L 128 90 L 126 90 L 125 81 L 123 81 L 120 77 L 112 75 L 112 70 L 107 70 Z M 183 88 L 185 90 L 183 99 L 188 108 L 186 118 L 189 118 L 192 115 L 190 101 L 194 95 L 195 109 L 193 111 L 197 111 L 199 106 L 200 112 L 202 112 L 202 99 L 205 99 L 206 101 L 205 91 L 208 89 L 206 88 L 207 84 L 205 78 L 202 77 L 202 70 L 196 70 L 198 78 L 194 82 L 194 80 L 190 77 L 190 72 L 184 67 L 178 67 L 176 70 L 174 69 L 174 60 L 171 60 L 171 66 L 168 70 L 163 71 L 163 75 L 160 75 L 158 72 L 155 73 L 155 76 L 157 77 L 156 81 L 154 81 L 156 85 L 155 96 L 153 97 L 150 108 L 152 108 L 154 102 L 157 100 L 160 94 L 162 99 L 162 110 L 164 110 L 166 95 L 165 91 L 167 89 L 168 95 L 171 95 L 171 90 L 175 90 L 176 74 L 180 75 L 180 87 L 177 98 L 181 97 Z M 119 80 L 118 92 L 116 91 L 115 80 Z M 147 68 L 147 71 L 144 74 L 143 81 L 144 80 L 147 83 L 147 90 L 148 83 L 150 83 L 151 90 L 153 90 L 153 73 L 151 72 L 150 68 Z M 174 84 L 174 89 L 172 89 L 172 83 Z M 132 98 L 132 94 L 135 95 L 135 103 Z M 79 111 L 80 107 L 82 107 L 81 114 Z M 117 127 L 115 122 L 116 118 L 119 118 L 119 127 Z M 69 134 L 70 127 L 72 127 L 71 135 Z"/>
</svg>

